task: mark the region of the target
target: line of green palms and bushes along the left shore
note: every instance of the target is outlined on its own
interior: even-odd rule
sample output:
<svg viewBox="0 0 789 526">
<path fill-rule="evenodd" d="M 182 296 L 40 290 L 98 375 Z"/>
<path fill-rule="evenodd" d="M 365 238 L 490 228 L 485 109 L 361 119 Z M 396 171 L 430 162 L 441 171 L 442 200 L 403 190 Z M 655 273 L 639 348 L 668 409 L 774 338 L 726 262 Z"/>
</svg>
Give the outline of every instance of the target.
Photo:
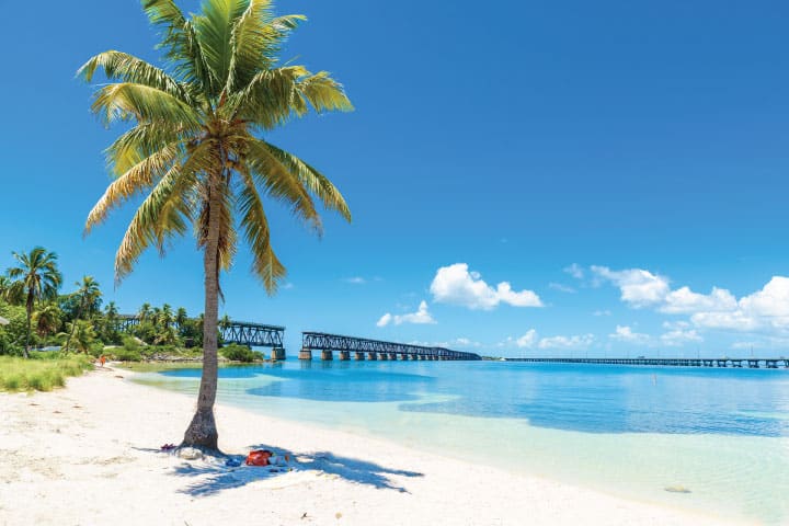
<svg viewBox="0 0 789 526">
<path fill-rule="evenodd" d="M 12 254 L 14 265 L 0 275 L 0 354 L 28 357 L 32 350 L 58 347 L 98 355 L 108 345 L 203 345 L 202 313 L 190 317 L 184 307 L 146 302 L 134 312 L 138 323 L 123 323 L 115 302 L 104 305 L 92 276 L 83 276 L 70 291 L 61 290 L 55 252 L 36 247 Z M 219 320 L 220 327 L 228 323 L 227 315 Z"/>
</svg>

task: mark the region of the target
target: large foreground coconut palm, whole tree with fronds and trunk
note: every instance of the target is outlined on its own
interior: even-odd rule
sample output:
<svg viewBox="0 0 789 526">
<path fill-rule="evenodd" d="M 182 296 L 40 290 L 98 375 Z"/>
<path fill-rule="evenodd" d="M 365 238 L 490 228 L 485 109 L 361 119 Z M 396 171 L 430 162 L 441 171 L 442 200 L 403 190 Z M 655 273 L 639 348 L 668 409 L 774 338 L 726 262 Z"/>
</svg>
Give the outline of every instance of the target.
<svg viewBox="0 0 789 526">
<path fill-rule="evenodd" d="M 351 219 L 323 174 L 262 135 L 310 106 L 322 113 L 352 105 L 328 72 L 279 64 L 283 42 L 305 18 L 275 16 L 271 0 L 204 0 L 188 19 L 174 0 L 142 0 L 142 7 L 162 31 L 163 68 L 106 52 L 80 69 L 89 82 L 98 69 L 116 81 L 96 90 L 94 113 L 107 124 L 132 121 L 107 150 L 115 181 L 91 210 L 85 232 L 112 208 L 146 195 L 115 258 L 122 279 L 148 247 L 163 253 L 194 227 L 204 270 L 203 376 L 183 445 L 216 449 L 219 274 L 236 253 L 237 227 L 252 251 L 253 273 L 274 294 L 285 267 L 272 249 L 262 196 L 285 203 L 318 233 L 313 197 Z"/>
</svg>

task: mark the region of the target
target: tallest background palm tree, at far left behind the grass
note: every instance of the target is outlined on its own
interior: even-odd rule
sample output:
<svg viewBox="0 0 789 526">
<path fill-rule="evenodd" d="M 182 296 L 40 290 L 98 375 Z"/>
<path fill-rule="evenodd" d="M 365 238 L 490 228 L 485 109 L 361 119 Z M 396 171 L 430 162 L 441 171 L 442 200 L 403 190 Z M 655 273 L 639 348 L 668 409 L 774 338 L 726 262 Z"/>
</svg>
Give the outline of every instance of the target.
<svg viewBox="0 0 789 526">
<path fill-rule="evenodd" d="M 34 248 L 28 254 L 13 252 L 13 256 L 19 262 L 19 266 L 9 268 L 8 275 L 15 282 L 12 288 L 16 287 L 24 294 L 27 312 L 24 356 L 28 358 L 33 307 L 36 301 L 57 297 L 62 276 L 57 268 L 57 254 L 47 252 L 42 247 Z"/>
</svg>

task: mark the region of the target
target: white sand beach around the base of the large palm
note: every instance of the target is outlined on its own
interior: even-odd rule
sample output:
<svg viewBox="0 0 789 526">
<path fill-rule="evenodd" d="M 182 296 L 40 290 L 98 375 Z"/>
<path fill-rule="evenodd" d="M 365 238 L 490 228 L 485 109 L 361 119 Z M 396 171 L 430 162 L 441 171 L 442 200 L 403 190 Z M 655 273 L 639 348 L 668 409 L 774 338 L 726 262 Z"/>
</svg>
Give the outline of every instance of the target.
<svg viewBox="0 0 789 526">
<path fill-rule="evenodd" d="M 123 376 L 124 378 L 119 378 Z M 194 401 L 98 370 L 0 393 L 1 525 L 707 525 L 720 519 L 218 405 L 220 447 L 293 470 L 159 451 Z"/>
</svg>

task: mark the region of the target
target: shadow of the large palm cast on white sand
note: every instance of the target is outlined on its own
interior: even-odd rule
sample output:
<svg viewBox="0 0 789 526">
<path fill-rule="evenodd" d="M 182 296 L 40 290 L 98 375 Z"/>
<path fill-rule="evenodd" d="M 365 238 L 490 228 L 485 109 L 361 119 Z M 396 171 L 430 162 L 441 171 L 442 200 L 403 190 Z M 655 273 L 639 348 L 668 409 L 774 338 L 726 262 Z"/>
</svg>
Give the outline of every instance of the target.
<svg viewBox="0 0 789 526">
<path fill-rule="evenodd" d="M 184 462 L 175 467 L 173 474 L 179 477 L 194 477 L 193 483 L 181 490 L 192 496 L 207 496 L 225 490 L 242 488 L 259 480 L 270 480 L 293 471 L 321 471 L 335 478 L 344 479 L 357 484 L 370 485 L 379 490 L 396 490 L 408 493 L 391 477 L 423 477 L 423 473 L 401 469 L 391 469 L 357 458 L 336 456 L 329 451 L 294 453 L 282 447 L 266 444 L 251 446 L 251 449 L 270 449 L 290 458 L 288 467 L 248 467 L 243 466 L 244 457 L 228 455 L 226 459 L 242 462 L 241 467 L 227 467 L 225 459 L 218 458 L 215 464 L 193 466 Z M 289 468 L 289 469 L 288 469 Z"/>
</svg>

